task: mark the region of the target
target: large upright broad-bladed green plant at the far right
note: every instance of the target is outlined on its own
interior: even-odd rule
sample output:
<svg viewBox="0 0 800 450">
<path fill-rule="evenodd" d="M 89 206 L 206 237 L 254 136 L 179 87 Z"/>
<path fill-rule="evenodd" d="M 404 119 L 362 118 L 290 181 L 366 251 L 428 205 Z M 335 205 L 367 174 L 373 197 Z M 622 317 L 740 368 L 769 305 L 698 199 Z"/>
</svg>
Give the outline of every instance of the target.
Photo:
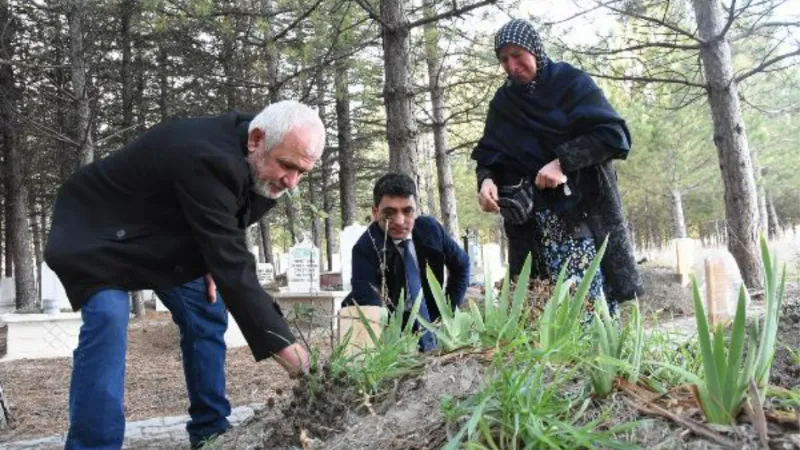
<svg viewBox="0 0 800 450">
<path fill-rule="evenodd" d="M 712 423 L 729 424 L 738 416 L 747 395 L 747 386 L 752 379 L 759 391 L 766 390 L 769 369 L 775 355 L 778 320 L 780 315 L 785 269 L 778 283 L 775 272 L 776 260 L 769 254 L 766 238 L 761 237 L 761 258 L 764 271 L 764 299 L 766 312 L 763 324 L 756 320 L 751 332 L 746 330 L 745 303 L 747 292 L 742 286 L 736 306 L 736 316 L 731 328 L 730 344 L 725 345 L 726 332 L 721 324 L 709 330 L 708 319 L 703 308 L 703 297 L 692 280 L 692 293 L 697 320 L 697 338 L 703 357 L 703 378 L 688 374 L 697 387 L 700 406 L 706 419 Z M 747 357 L 744 357 L 744 342 L 747 338 Z M 764 401 L 764 397 L 759 399 Z"/>
</svg>

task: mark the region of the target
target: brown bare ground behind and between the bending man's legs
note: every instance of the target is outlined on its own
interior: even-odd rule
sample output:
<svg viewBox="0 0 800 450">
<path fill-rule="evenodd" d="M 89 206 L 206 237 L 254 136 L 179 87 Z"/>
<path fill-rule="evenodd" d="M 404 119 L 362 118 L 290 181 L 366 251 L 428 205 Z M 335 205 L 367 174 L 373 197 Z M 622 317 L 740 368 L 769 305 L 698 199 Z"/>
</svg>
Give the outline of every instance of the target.
<svg viewBox="0 0 800 450">
<path fill-rule="evenodd" d="M 0 431 L 0 443 L 67 431 L 71 370 L 71 358 L 0 363 L 0 383 L 14 419 L 11 429 Z M 228 350 L 226 373 L 234 408 L 281 397 L 276 389 L 288 396 L 295 383 L 278 364 L 256 363 L 247 347 Z M 169 313 L 148 311 L 145 320 L 128 328 L 126 420 L 185 415 L 187 408 L 177 326 Z"/>
</svg>

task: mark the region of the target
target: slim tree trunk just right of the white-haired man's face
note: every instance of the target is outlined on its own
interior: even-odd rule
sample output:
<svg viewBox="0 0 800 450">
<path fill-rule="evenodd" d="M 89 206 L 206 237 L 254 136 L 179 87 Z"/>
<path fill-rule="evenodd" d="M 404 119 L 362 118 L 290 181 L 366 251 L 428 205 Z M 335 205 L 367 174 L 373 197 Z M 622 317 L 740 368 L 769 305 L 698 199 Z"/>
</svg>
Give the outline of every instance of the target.
<svg viewBox="0 0 800 450">
<path fill-rule="evenodd" d="M 356 217 L 356 167 L 350 122 L 350 92 L 348 91 L 347 60 L 336 63 L 336 129 L 339 144 L 339 202 L 342 208 L 342 228 L 358 222 Z"/>
</svg>

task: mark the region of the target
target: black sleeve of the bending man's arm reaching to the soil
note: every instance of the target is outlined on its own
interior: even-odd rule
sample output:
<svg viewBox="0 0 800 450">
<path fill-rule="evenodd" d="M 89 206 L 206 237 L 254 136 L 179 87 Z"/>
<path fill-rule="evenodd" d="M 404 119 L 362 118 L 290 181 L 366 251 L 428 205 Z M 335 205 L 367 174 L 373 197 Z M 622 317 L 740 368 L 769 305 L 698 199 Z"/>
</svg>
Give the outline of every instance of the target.
<svg viewBox="0 0 800 450">
<path fill-rule="evenodd" d="M 175 192 L 194 240 L 256 361 L 270 357 L 295 338 L 258 283 L 236 218 L 235 193 L 241 192 L 236 171 L 226 160 L 198 157 L 186 164 L 176 177 Z"/>
</svg>

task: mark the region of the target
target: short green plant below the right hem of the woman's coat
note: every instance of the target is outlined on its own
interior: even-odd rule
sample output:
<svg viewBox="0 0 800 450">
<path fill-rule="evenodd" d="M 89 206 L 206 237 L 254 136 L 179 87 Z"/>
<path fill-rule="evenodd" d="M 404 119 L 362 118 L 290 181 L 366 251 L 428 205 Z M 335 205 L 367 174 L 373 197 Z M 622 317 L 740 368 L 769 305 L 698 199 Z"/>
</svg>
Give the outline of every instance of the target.
<svg viewBox="0 0 800 450">
<path fill-rule="evenodd" d="M 599 398 L 607 397 L 614 390 L 621 369 L 628 372 L 628 381 L 638 381 L 644 341 L 638 303 L 633 305 L 631 315 L 631 322 L 620 331 L 619 320 L 611 317 L 605 299 L 595 300 L 591 325 L 595 357 L 590 365 L 589 376 L 595 395 Z"/>
</svg>

